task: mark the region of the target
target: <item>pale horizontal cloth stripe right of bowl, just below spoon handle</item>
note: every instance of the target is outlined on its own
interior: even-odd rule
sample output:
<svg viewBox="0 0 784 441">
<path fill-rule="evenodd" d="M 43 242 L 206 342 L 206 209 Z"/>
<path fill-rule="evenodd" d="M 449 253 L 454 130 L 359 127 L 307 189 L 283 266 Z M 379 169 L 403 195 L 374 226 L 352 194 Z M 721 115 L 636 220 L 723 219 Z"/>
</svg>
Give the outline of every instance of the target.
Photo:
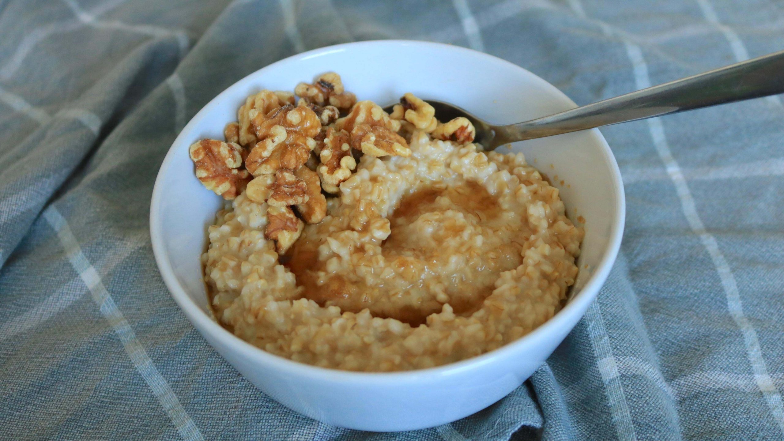
<svg viewBox="0 0 784 441">
<path fill-rule="evenodd" d="M 744 179 L 748 177 L 784 176 L 784 158 L 743 162 L 730 166 L 695 167 L 681 169 L 687 180 Z M 622 169 L 623 183 L 634 184 L 645 180 L 670 179 L 666 171 L 655 167 Z"/>
</svg>

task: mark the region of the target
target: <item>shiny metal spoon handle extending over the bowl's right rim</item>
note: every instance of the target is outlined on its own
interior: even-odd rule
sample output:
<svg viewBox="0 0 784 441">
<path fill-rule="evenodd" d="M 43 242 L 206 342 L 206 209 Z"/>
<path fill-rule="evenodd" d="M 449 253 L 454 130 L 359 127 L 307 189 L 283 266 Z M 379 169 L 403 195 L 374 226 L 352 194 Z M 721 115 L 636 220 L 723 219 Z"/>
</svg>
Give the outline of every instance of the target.
<svg viewBox="0 0 784 441">
<path fill-rule="evenodd" d="M 778 93 L 784 51 L 495 130 L 503 142 L 530 140 Z"/>
</svg>

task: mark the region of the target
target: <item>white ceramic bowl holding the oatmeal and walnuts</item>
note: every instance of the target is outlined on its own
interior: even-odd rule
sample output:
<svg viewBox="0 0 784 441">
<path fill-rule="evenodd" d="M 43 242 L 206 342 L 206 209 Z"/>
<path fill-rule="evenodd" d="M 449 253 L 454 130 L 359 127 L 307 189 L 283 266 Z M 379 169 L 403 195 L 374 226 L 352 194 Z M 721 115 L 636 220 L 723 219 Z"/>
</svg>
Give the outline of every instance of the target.
<svg viewBox="0 0 784 441">
<path fill-rule="evenodd" d="M 161 275 L 185 315 L 229 363 L 285 406 L 328 424 L 372 431 L 441 425 L 474 414 L 521 385 L 549 356 L 607 278 L 621 242 L 624 198 L 618 165 L 598 130 L 514 145 L 561 190 L 568 214 L 586 219 L 580 274 L 572 297 L 532 333 L 473 359 L 400 373 L 354 373 L 283 359 L 234 337 L 212 319 L 201 279 L 206 228 L 220 197 L 194 177 L 188 146 L 223 138 L 245 97 L 292 90 L 337 71 L 361 100 L 381 105 L 405 92 L 445 100 L 491 122 L 520 122 L 575 107 L 531 72 L 470 49 L 427 42 L 379 41 L 330 46 L 291 56 L 220 93 L 185 126 L 163 161 L 152 196 L 150 230 Z M 564 184 L 560 184 L 564 180 Z M 586 269 L 587 268 L 587 269 Z"/>
</svg>

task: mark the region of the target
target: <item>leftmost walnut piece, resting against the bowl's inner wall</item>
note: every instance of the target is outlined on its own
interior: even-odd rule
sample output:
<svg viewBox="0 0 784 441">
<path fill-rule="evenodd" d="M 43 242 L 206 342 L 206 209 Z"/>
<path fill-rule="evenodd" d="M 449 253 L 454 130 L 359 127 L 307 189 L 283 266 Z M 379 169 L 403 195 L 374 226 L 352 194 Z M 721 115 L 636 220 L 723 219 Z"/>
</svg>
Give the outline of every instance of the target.
<svg viewBox="0 0 784 441">
<path fill-rule="evenodd" d="M 250 180 L 242 166 L 242 148 L 219 140 L 200 140 L 188 149 L 196 166 L 196 177 L 223 199 L 234 199 Z"/>
</svg>

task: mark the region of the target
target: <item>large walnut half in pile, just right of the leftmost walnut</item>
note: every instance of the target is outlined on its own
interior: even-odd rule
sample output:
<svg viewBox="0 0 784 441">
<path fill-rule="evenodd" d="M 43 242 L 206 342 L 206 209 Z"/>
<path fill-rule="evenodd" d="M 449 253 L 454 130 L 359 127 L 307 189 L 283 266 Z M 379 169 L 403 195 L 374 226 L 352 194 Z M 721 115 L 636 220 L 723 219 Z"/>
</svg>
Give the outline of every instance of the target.
<svg viewBox="0 0 784 441">
<path fill-rule="evenodd" d="M 309 108 L 286 104 L 262 115 L 249 111 L 251 125 L 260 141 L 252 148 L 245 167 L 253 176 L 278 169 L 299 169 L 316 146 L 314 136 L 321 130 L 316 114 Z"/>
</svg>

